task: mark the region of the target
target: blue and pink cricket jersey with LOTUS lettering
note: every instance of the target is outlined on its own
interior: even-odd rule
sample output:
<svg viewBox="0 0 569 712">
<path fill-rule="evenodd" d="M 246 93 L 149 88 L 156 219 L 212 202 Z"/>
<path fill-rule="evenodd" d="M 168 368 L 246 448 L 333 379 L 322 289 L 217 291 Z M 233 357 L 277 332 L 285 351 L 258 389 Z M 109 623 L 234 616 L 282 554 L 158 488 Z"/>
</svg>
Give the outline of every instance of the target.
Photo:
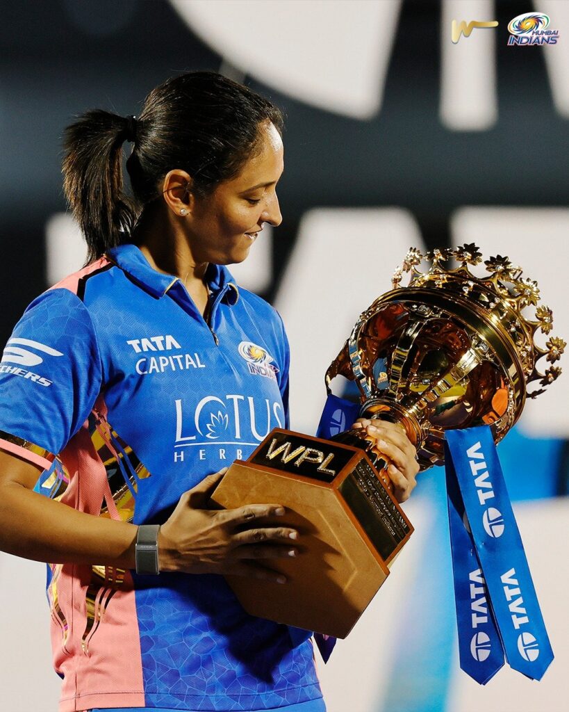
<svg viewBox="0 0 569 712">
<path fill-rule="evenodd" d="M 0 447 L 36 491 L 164 523 L 182 493 L 287 427 L 289 350 L 264 300 L 210 265 L 208 322 L 132 244 L 26 309 L 0 362 Z M 48 565 L 60 712 L 278 708 L 321 697 L 309 633 L 245 613 L 220 575 Z"/>
</svg>

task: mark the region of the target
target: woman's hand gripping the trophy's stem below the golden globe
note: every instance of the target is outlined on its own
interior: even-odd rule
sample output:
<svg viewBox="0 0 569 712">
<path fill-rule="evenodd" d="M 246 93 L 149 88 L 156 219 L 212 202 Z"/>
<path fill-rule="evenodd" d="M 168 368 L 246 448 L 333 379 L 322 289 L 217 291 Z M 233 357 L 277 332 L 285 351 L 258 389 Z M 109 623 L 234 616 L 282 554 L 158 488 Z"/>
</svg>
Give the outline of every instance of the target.
<svg viewBox="0 0 569 712">
<path fill-rule="evenodd" d="M 405 502 L 417 485 L 415 476 L 420 468 L 415 459 L 417 451 L 403 427 L 386 420 L 358 418 L 351 429 L 361 431 L 363 438 L 376 441 L 374 449 L 389 462 L 386 472 L 393 482 L 395 499 Z"/>
</svg>

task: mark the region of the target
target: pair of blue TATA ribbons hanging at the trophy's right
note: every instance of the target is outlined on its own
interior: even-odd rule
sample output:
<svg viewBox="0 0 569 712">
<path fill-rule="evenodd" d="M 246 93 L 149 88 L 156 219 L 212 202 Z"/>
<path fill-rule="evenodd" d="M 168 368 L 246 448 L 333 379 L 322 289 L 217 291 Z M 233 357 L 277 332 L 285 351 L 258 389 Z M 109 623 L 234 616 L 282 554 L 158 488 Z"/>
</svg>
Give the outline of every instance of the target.
<svg viewBox="0 0 569 712">
<path fill-rule="evenodd" d="M 489 426 L 445 433 L 461 668 L 486 684 L 504 664 L 540 680 L 553 651 Z"/>
</svg>

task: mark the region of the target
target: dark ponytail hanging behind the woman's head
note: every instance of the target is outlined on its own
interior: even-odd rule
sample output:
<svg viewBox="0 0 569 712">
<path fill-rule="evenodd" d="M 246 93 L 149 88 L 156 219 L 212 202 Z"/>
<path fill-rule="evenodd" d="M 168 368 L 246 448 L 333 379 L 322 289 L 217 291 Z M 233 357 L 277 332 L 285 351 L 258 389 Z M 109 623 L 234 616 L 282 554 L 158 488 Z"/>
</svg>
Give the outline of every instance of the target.
<svg viewBox="0 0 569 712">
<path fill-rule="evenodd" d="M 122 144 L 132 140 L 132 125 L 132 117 L 95 109 L 65 129 L 63 192 L 87 242 L 87 263 L 125 241 L 140 212 L 123 192 Z"/>
</svg>

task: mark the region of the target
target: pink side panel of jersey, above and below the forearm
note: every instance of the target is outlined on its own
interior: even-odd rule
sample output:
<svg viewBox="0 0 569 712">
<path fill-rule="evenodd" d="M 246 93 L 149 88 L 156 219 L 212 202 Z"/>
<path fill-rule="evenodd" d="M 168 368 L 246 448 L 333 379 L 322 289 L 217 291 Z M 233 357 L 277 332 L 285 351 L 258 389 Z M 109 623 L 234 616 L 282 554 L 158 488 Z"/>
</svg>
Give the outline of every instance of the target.
<svg viewBox="0 0 569 712">
<path fill-rule="evenodd" d="M 105 466 L 85 424 L 60 454 L 70 483 L 61 501 L 99 515 L 113 506 Z M 80 475 L 79 475 L 80 473 Z M 60 712 L 144 706 L 142 657 L 132 576 L 107 567 L 105 580 L 87 565 L 55 566 L 50 587 L 55 669 L 64 674 Z M 120 577 L 124 582 L 120 583 Z M 110 578 L 119 581 L 112 585 Z"/>
</svg>

